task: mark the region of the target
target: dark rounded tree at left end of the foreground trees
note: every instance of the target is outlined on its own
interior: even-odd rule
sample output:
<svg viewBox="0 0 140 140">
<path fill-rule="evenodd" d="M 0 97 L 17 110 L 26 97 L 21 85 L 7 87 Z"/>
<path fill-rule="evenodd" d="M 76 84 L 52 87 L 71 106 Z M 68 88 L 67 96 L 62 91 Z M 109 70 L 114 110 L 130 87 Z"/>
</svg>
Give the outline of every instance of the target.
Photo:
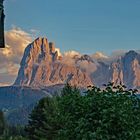
<svg viewBox="0 0 140 140">
<path fill-rule="evenodd" d="M 53 140 L 57 136 L 60 125 L 58 122 L 58 105 L 55 97 L 46 97 L 39 101 L 32 111 L 29 125 L 26 127 L 31 140 Z"/>
</svg>

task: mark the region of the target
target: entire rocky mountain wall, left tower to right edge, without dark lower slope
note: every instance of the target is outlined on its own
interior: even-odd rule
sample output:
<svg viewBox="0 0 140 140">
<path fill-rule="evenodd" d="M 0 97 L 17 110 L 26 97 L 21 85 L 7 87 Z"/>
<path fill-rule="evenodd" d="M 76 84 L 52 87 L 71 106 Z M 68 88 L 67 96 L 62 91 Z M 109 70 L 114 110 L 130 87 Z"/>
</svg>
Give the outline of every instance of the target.
<svg viewBox="0 0 140 140">
<path fill-rule="evenodd" d="M 129 51 L 107 62 L 89 55 L 69 52 L 60 55 L 54 43 L 37 38 L 24 52 L 14 85 L 42 87 L 70 83 L 78 87 L 102 86 L 108 82 L 140 89 L 140 54 Z"/>
</svg>

